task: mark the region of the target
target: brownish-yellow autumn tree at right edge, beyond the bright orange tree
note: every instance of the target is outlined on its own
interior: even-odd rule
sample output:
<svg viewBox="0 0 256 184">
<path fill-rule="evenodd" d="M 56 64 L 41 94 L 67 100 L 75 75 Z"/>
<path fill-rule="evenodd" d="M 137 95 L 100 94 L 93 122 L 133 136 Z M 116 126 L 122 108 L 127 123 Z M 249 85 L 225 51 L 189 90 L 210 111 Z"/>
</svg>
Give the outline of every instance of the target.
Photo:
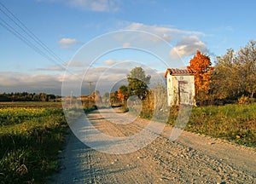
<svg viewBox="0 0 256 184">
<path fill-rule="evenodd" d="M 218 100 L 237 100 L 256 94 L 256 42 L 250 41 L 238 51 L 228 49 L 217 57 L 212 74 L 212 95 Z"/>
</svg>

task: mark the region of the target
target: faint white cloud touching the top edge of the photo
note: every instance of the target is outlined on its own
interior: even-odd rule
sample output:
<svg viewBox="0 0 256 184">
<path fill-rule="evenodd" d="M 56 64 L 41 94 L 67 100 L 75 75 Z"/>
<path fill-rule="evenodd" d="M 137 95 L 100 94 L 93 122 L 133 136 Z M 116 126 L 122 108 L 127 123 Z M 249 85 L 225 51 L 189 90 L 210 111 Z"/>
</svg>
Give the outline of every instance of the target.
<svg viewBox="0 0 256 184">
<path fill-rule="evenodd" d="M 116 12 L 119 0 L 38 0 L 38 2 L 62 3 L 69 7 L 95 12 Z"/>
</svg>

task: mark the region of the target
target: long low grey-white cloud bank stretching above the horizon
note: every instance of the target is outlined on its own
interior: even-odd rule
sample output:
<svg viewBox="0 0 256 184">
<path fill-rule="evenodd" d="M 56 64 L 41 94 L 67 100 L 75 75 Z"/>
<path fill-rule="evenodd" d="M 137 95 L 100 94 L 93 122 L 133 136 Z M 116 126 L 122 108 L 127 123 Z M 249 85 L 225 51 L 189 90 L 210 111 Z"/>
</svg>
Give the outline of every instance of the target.
<svg viewBox="0 0 256 184">
<path fill-rule="evenodd" d="M 127 74 L 131 71 L 130 67 L 92 67 L 86 73 L 78 70 L 75 73 L 59 74 L 27 74 L 23 72 L 1 72 L 0 73 L 0 93 L 29 92 L 29 93 L 48 93 L 61 95 L 62 84 L 65 84 L 66 91 L 78 91 L 88 95 L 88 81 L 92 83 L 92 90 L 96 89 L 103 95 L 105 92 L 113 92 L 122 84 L 127 84 Z M 146 74 L 151 75 L 151 84 L 156 85 L 159 81 L 154 79 L 164 78 L 163 72 L 153 72 L 145 70 Z M 163 79 L 165 80 L 165 79 Z M 151 86 L 153 87 L 153 86 Z"/>
</svg>

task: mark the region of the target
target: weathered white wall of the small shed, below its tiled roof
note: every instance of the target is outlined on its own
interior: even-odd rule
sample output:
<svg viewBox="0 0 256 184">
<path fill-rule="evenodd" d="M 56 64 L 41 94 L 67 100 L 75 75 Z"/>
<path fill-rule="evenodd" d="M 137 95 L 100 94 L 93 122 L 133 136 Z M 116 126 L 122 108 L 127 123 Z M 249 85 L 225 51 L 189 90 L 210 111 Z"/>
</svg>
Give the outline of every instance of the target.
<svg viewBox="0 0 256 184">
<path fill-rule="evenodd" d="M 195 106 L 195 79 L 193 75 L 172 76 L 167 79 L 167 101 L 168 105 L 188 104 Z"/>
</svg>

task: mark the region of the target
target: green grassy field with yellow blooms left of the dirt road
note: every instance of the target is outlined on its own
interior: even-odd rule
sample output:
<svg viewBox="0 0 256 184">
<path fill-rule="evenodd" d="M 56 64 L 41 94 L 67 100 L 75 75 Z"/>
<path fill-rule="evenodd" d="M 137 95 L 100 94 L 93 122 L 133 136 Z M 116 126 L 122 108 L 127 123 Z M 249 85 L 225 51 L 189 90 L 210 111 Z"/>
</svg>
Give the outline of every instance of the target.
<svg viewBox="0 0 256 184">
<path fill-rule="evenodd" d="M 2 103 L 0 183 L 43 183 L 59 168 L 66 133 L 67 123 L 56 104 Z"/>
</svg>

